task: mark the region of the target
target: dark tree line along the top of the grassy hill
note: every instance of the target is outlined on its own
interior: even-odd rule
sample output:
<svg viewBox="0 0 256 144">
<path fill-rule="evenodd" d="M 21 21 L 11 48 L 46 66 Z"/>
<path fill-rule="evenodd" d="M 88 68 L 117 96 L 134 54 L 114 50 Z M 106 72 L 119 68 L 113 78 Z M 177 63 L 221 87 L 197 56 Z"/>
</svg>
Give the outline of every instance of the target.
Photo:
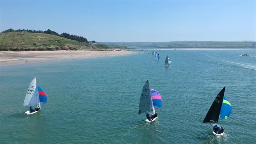
<svg viewBox="0 0 256 144">
<path fill-rule="evenodd" d="M 87 38 L 84 38 L 83 36 L 76 36 L 76 35 L 70 35 L 68 33 L 62 33 L 62 34 L 58 34 L 55 31 L 52 31 L 50 29 L 42 31 L 42 30 L 31 30 L 31 29 L 17 29 L 17 30 L 13 30 L 12 28 L 4 30 L 3 33 L 8 33 L 8 32 L 29 32 L 29 33 L 43 33 L 43 34 L 53 34 L 56 36 L 61 36 L 61 37 L 65 37 L 67 39 L 72 39 L 72 40 L 76 40 L 78 42 L 83 42 L 83 43 L 89 43 L 87 41 Z"/>
</svg>

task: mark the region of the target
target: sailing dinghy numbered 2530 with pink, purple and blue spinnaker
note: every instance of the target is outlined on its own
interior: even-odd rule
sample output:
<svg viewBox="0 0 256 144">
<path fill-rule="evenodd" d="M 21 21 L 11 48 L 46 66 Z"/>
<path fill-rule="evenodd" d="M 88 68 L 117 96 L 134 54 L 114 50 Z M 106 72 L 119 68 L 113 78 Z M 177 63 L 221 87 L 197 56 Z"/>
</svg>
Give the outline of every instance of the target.
<svg viewBox="0 0 256 144">
<path fill-rule="evenodd" d="M 142 88 L 140 95 L 139 114 L 149 114 L 149 119 L 145 122 L 152 123 L 156 121 L 157 113 L 154 106 L 160 108 L 162 105 L 162 98 L 159 92 L 149 88 L 148 80 Z"/>
</svg>

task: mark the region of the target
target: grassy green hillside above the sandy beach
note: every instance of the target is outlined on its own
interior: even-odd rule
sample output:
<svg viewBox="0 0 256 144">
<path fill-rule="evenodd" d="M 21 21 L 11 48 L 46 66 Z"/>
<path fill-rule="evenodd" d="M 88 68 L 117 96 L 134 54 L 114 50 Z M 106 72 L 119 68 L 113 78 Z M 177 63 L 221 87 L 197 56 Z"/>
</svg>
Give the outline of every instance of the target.
<svg viewBox="0 0 256 144">
<path fill-rule="evenodd" d="M 53 34 L 7 32 L 0 33 L 0 51 L 45 51 L 45 50 L 79 50 L 112 49 L 105 44 L 91 45 L 80 43 Z"/>
</svg>

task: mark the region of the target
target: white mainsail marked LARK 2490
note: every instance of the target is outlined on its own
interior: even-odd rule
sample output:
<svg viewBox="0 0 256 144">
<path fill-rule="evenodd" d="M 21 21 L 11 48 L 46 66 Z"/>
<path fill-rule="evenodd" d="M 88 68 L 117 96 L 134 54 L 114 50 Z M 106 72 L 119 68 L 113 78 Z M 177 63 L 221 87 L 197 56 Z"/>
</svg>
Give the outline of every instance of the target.
<svg viewBox="0 0 256 144">
<path fill-rule="evenodd" d="M 23 106 L 37 106 L 39 104 L 38 89 L 36 88 L 36 77 L 28 86 L 28 91 Z"/>
</svg>

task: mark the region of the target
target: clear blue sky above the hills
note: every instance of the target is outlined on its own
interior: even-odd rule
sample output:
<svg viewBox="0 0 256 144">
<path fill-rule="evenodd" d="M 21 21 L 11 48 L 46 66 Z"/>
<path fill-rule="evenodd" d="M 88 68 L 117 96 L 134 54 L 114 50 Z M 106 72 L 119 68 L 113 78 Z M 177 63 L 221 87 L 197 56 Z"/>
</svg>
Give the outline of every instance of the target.
<svg viewBox="0 0 256 144">
<path fill-rule="evenodd" d="M 51 29 L 100 42 L 256 40 L 256 0 L 0 0 L 0 31 L 9 28 Z"/>
</svg>

